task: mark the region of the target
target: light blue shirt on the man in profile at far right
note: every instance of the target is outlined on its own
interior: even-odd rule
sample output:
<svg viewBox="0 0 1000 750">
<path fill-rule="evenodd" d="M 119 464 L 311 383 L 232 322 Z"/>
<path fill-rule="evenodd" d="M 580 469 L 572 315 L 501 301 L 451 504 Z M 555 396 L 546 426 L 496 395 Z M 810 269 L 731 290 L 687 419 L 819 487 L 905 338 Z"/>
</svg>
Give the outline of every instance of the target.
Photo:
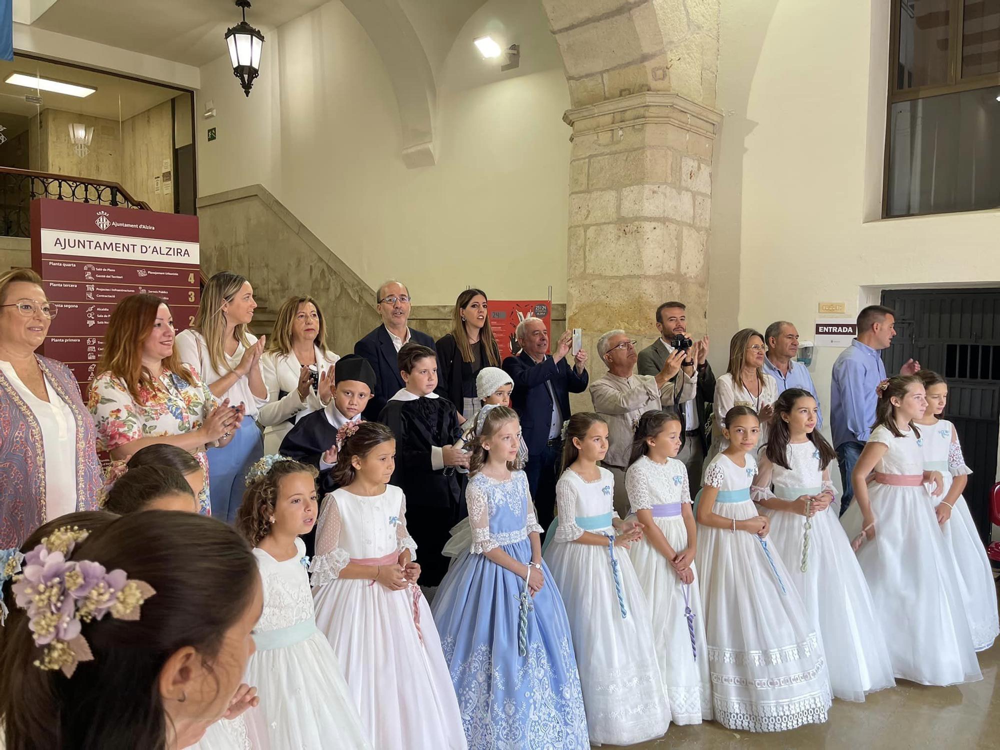
<svg viewBox="0 0 1000 750">
<path fill-rule="evenodd" d="M 882 357 L 857 339 L 837 357 L 830 384 L 830 429 L 835 448 L 868 441 L 878 403 L 875 389 L 883 380 Z"/>
</svg>

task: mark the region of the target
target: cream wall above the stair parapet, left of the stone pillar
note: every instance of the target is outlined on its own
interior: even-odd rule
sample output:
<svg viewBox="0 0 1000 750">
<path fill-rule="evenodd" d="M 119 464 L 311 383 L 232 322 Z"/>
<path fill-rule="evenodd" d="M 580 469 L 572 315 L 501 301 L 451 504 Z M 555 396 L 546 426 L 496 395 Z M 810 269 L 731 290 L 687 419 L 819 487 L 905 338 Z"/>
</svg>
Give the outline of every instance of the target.
<svg viewBox="0 0 1000 750">
<path fill-rule="evenodd" d="M 501 75 L 478 56 L 485 28 L 521 44 L 519 69 Z M 569 95 L 538 0 L 490 0 L 459 33 L 438 77 L 430 167 L 404 166 L 392 86 L 340 2 L 275 42 L 264 54 L 280 56 L 278 110 L 272 68 L 249 99 L 228 59 L 202 69 L 199 111 L 212 100 L 217 115 L 198 122 L 201 195 L 261 182 L 366 283 L 403 278 L 417 304 L 451 304 L 466 285 L 495 298 L 551 285 L 565 300 Z"/>
</svg>

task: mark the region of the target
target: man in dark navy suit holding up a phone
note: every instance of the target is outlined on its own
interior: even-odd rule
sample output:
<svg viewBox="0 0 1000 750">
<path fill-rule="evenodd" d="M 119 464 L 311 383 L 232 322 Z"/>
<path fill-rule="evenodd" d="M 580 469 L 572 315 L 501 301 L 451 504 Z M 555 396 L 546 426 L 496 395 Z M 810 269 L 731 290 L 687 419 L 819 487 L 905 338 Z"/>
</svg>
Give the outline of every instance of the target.
<svg viewBox="0 0 1000 750">
<path fill-rule="evenodd" d="M 545 323 L 525 318 L 517 327 L 521 353 L 507 357 L 503 369 L 514 381 L 511 406 L 521 418 L 521 436 L 528 446 L 528 487 L 535 501 L 538 523 L 548 530 L 555 515 L 556 480 L 562 459 L 562 426 L 570 417 L 569 394 L 587 390 L 589 376 L 582 349 L 566 362 L 573 331 L 567 329 L 552 355 Z"/>
</svg>

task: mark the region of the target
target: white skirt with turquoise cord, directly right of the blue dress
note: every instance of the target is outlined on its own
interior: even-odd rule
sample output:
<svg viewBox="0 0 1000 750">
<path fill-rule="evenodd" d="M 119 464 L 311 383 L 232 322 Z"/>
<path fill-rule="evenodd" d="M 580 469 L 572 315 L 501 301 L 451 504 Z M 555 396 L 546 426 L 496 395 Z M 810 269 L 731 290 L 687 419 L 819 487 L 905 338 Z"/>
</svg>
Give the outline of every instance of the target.
<svg viewBox="0 0 1000 750">
<path fill-rule="evenodd" d="M 554 541 L 545 562 L 566 605 L 590 741 L 632 745 L 666 733 L 670 706 L 648 651 L 653 631 L 646 597 L 628 551 L 615 547 L 614 553 L 620 602 L 606 545 Z"/>
</svg>

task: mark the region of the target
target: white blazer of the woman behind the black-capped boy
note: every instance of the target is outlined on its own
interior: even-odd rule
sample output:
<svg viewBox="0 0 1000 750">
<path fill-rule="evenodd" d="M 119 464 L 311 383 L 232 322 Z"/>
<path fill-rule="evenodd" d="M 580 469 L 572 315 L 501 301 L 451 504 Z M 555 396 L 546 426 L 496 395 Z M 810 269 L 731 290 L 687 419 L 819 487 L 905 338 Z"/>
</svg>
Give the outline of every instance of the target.
<svg viewBox="0 0 1000 750">
<path fill-rule="evenodd" d="M 323 352 L 316 347 L 316 364 L 320 375 L 333 367 L 338 359 L 340 357 L 333 352 Z M 305 401 L 299 398 L 299 372 L 302 370 L 302 365 L 294 352 L 288 354 L 267 352 L 260 358 L 260 364 L 264 385 L 267 386 L 267 404 L 260 408 L 257 421 L 261 427 L 266 428 L 264 453 L 270 455 L 278 452 L 281 441 L 285 439 L 285 435 L 295 422 L 306 414 L 322 409 L 323 404 L 320 403 L 315 388 L 310 387 Z M 279 397 L 281 391 L 286 394 L 283 398 Z"/>
</svg>

